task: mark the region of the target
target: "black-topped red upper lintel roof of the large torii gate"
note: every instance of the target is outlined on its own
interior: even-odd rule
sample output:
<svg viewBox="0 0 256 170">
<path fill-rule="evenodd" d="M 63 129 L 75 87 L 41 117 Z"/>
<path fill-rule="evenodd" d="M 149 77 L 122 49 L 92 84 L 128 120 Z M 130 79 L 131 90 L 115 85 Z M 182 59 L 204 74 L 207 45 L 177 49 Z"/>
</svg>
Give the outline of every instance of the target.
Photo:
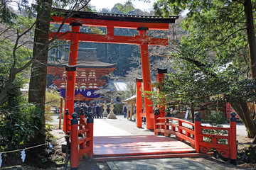
<svg viewBox="0 0 256 170">
<path fill-rule="evenodd" d="M 85 11 L 70 11 L 60 8 L 53 8 L 53 20 L 61 23 L 65 16 L 69 23 L 82 23 L 87 26 L 114 26 L 114 28 L 133 28 L 146 27 L 149 30 L 166 30 L 169 23 L 175 23 L 178 16 L 169 16 L 169 18 L 159 16 L 132 16 L 115 13 L 95 13 Z"/>
</svg>

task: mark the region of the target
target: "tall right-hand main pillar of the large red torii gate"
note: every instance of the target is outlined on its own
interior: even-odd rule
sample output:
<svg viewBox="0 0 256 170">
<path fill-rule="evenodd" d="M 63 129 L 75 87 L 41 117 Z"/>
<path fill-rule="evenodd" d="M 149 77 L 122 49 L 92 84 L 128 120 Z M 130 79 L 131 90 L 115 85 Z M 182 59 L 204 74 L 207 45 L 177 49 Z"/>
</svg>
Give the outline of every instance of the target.
<svg viewBox="0 0 256 170">
<path fill-rule="evenodd" d="M 138 28 L 139 36 L 142 40 L 140 44 L 140 51 L 142 57 L 142 77 L 143 77 L 143 88 L 144 91 L 151 91 L 151 78 L 150 78 L 150 68 L 149 68 L 149 46 L 146 41 L 146 30 L 149 28 L 141 27 Z M 151 118 L 151 114 L 153 114 L 153 107 L 151 106 L 152 102 L 148 98 L 144 98 L 145 110 L 146 110 L 146 129 L 152 130 L 154 129 L 154 118 Z"/>
</svg>

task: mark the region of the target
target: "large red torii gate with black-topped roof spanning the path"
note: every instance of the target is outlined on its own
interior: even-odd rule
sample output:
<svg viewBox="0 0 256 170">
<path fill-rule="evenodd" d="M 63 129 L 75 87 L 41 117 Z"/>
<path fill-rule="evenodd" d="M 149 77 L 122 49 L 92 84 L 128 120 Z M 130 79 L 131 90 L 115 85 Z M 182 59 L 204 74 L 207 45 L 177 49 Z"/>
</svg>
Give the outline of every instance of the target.
<svg viewBox="0 0 256 170">
<path fill-rule="evenodd" d="M 53 8 L 55 15 L 52 23 L 65 23 L 72 26 L 71 32 L 58 33 L 58 39 L 69 40 L 70 57 L 66 70 L 68 72 L 67 92 L 65 109 L 68 108 L 70 113 L 74 112 L 75 98 L 75 70 L 78 60 L 78 45 L 79 42 L 105 42 L 118 44 L 134 44 L 140 45 L 142 58 L 142 77 L 144 91 L 151 91 L 151 78 L 149 68 L 149 49 L 148 45 L 168 45 L 167 38 L 152 38 L 146 35 L 147 30 L 168 30 L 169 23 L 175 23 L 178 16 L 162 18 L 157 16 L 130 16 L 110 13 L 93 13 L 83 11 L 68 11 L 58 8 Z M 58 14 L 59 13 L 59 16 Z M 64 21 L 64 17 L 68 18 Z M 106 35 L 95 35 L 90 33 L 80 32 L 80 26 L 97 26 L 107 28 Z M 139 35 L 119 36 L 114 35 L 114 28 L 130 28 L 139 30 Z M 56 33 L 51 33 L 50 38 L 53 38 Z M 154 113 L 151 101 L 148 98 L 144 99 L 146 110 L 146 128 L 154 129 Z"/>
</svg>

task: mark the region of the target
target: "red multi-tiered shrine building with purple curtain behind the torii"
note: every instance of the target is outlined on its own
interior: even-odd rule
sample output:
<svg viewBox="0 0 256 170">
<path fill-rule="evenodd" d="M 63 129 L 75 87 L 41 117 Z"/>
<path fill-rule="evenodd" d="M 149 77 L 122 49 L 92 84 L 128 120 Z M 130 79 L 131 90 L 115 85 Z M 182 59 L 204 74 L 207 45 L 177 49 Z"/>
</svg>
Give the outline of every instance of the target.
<svg viewBox="0 0 256 170">
<path fill-rule="evenodd" d="M 116 64 L 99 62 L 95 52 L 85 52 L 82 49 L 78 52 L 78 60 L 75 79 L 75 101 L 90 103 L 90 101 L 100 97 L 99 94 L 94 94 L 94 92 L 106 83 L 102 77 L 113 72 Z M 58 87 L 63 98 L 65 98 L 67 87 L 66 65 L 68 65 L 68 54 L 63 52 L 63 56 L 61 60 L 58 60 L 58 63 L 49 62 L 47 67 L 47 73 L 53 75 L 53 84 Z"/>
</svg>

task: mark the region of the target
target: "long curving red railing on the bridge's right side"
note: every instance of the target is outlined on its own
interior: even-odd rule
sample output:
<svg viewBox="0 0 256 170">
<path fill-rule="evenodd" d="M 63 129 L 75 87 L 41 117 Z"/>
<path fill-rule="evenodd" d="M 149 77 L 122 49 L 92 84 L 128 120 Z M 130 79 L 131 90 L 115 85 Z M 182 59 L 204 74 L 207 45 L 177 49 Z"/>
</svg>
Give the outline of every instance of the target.
<svg viewBox="0 0 256 170">
<path fill-rule="evenodd" d="M 158 134 L 162 133 L 165 136 L 176 135 L 178 140 L 190 142 L 191 147 L 195 148 L 198 153 L 213 152 L 215 157 L 230 159 L 231 164 L 236 164 L 235 113 L 231 113 L 231 116 L 230 128 L 202 126 L 199 113 L 196 113 L 195 123 L 171 117 L 157 118 L 155 128 Z M 210 134 L 207 130 L 212 132 L 226 131 L 228 135 Z M 226 140 L 227 142 L 221 143 L 220 140 Z"/>
</svg>

